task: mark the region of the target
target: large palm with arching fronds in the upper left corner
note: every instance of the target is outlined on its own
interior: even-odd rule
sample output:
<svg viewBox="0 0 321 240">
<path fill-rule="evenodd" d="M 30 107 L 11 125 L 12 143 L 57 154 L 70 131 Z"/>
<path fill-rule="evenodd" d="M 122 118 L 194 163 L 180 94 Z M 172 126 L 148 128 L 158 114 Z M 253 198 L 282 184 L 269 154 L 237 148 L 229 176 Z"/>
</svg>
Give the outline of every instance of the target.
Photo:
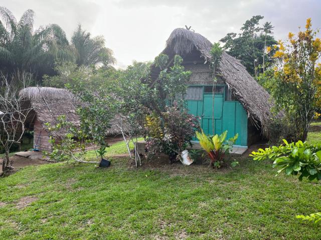
<svg viewBox="0 0 321 240">
<path fill-rule="evenodd" d="M 55 61 L 74 61 L 75 50 L 57 24 L 34 31 L 34 11 L 26 10 L 17 21 L 6 7 L 0 7 L 0 65 L 3 72 L 15 75 L 29 71 L 41 77 L 53 73 Z"/>
</svg>

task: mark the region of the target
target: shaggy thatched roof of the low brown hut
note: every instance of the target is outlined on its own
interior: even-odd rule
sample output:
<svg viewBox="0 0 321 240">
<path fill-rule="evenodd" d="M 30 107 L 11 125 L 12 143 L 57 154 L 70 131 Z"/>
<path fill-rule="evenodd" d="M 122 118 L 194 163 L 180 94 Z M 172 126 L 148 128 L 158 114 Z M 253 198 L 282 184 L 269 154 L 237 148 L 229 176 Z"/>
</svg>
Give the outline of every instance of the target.
<svg viewBox="0 0 321 240">
<path fill-rule="evenodd" d="M 43 128 L 48 134 L 54 137 L 60 137 L 65 134 L 65 131 L 49 131 L 46 122 L 51 125 L 58 123 L 57 118 L 60 115 L 65 115 L 66 120 L 79 125 L 79 116 L 76 113 L 76 108 L 81 104 L 80 101 L 67 89 L 55 87 L 27 87 L 20 91 L 20 96 L 23 97 L 25 104 L 33 108 L 31 114 L 36 114 Z M 28 117 L 31 121 L 33 116 Z M 28 121 L 28 120 L 27 120 Z M 112 124 L 106 134 L 118 134 L 120 131 Z"/>
</svg>

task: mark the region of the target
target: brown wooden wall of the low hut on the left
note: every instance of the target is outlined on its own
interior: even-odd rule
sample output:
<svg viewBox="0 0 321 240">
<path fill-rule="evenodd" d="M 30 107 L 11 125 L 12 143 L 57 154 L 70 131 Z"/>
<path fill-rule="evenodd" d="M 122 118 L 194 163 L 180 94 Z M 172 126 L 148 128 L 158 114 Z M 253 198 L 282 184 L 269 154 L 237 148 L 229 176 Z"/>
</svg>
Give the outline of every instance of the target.
<svg viewBox="0 0 321 240">
<path fill-rule="evenodd" d="M 34 148 L 38 148 L 40 151 L 52 152 L 52 144 L 49 142 L 48 132 L 43 128 L 37 117 L 34 121 Z"/>
</svg>

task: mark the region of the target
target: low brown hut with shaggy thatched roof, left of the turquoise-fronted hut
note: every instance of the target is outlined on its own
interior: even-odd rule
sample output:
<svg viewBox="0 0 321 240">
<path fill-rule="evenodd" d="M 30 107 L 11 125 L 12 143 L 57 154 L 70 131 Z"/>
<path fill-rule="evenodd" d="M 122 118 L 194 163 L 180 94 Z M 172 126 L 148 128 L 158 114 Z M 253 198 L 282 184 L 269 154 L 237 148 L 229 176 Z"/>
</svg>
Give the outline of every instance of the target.
<svg viewBox="0 0 321 240">
<path fill-rule="evenodd" d="M 20 91 L 23 97 L 25 108 L 31 107 L 27 120 L 26 128 L 34 130 L 34 148 L 40 151 L 52 151 L 52 144 L 49 137 L 56 138 L 57 141 L 65 134 L 62 129 L 60 131 L 49 131 L 46 122 L 50 125 L 58 123 L 57 118 L 65 115 L 66 120 L 73 122 L 75 125 L 79 123 L 79 117 L 76 114 L 76 107 L 79 102 L 75 96 L 66 89 L 54 87 L 27 87 Z M 119 133 L 115 126 L 107 130 L 106 135 L 114 137 Z"/>
</svg>

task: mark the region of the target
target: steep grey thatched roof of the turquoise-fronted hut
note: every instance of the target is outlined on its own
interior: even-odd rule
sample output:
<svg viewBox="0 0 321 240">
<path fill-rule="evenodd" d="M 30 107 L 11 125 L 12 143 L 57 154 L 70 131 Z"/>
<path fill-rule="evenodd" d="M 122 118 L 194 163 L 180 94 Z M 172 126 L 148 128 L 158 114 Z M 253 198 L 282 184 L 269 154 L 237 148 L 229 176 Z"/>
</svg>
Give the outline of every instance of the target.
<svg viewBox="0 0 321 240">
<path fill-rule="evenodd" d="M 198 59 L 203 63 L 208 63 L 211 60 L 212 46 L 213 44 L 203 35 L 184 28 L 176 28 L 166 41 L 163 53 L 168 54 L 171 59 L 175 54 L 184 58 L 184 56 L 198 51 Z M 153 67 L 153 76 L 157 74 L 157 71 Z M 225 51 L 222 53 L 218 71 L 237 100 L 248 112 L 248 117 L 253 124 L 261 127 L 263 133 L 267 135 L 267 123 L 271 116 L 272 106 L 269 93 L 257 83 L 239 60 Z"/>
</svg>

